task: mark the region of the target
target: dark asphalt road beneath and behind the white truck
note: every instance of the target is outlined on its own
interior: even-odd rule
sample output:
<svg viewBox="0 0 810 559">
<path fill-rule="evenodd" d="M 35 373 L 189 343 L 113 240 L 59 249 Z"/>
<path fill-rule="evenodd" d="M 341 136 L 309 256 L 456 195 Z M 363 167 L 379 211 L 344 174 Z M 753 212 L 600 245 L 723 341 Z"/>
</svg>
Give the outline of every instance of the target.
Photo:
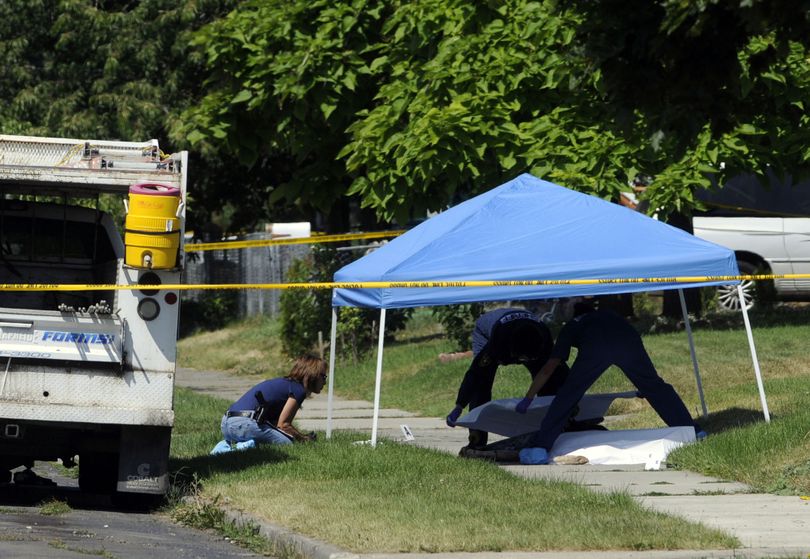
<svg viewBox="0 0 810 559">
<path fill-rule="evenodd" d="M 87 495 L 76 481 L 37 466 L 55 488 L 0 485 L 0 557 L 3 559 L 230 559 L 257 557 L 221 536 L 180 526 L 159 512 L 113 506 L 108 496 Z M 58 499 L 70 511 L 41 512 Z"/>
</svg>

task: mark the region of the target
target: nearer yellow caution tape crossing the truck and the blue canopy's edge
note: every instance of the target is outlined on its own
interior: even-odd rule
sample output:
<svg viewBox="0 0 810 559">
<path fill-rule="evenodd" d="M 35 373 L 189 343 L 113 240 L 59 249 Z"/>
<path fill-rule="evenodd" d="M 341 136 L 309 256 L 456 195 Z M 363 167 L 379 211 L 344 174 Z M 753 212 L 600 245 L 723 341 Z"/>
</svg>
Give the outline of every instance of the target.
<svg viewBox="0 0 810 559">
<path fill-rule="evenodd" d="M 191 289 L 425 289 L 446 287 L 530 287 L 538 285 L 603 285 L 626 283 L 708 283 L 739 280 L 808 279 L 810 274 L 763 274 L 755 276 L 681 276 L 671 278 L 610 278 L 576 280 L 466 280 L 466 281 L 363 281 L 314 283 L 217 283 L 162 285 L 116 284 L 39 284 L 5 283 L 0 291 L 109 291 L 109 290 L 191 290 Z"/>
</svg>

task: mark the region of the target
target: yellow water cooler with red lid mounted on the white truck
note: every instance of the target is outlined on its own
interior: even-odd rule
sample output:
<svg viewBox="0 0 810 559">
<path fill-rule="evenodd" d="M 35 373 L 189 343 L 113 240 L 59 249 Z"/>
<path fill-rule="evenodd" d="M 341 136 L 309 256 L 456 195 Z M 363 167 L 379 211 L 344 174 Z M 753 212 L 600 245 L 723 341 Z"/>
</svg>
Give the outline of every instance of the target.
<svg viewBox="0 0 810 559">
<path fill-rule="evenodd" d="M 180 246 L 180 189 L 160 183 L 129 187 L 124 226 L 125 262 L 134 268 L 168 270 Z"/>
</svg>

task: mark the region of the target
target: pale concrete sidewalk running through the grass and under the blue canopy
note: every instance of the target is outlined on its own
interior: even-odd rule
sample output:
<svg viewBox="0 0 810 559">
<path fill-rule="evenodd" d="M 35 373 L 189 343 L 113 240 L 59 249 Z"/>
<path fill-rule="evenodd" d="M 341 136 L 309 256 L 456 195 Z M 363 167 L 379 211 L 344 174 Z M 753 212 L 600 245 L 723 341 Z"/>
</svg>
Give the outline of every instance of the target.
<svg viewBox="0 0 810 559">
<path fill-rule="evenodd" d="M 178 369 L 177 384 L 192 390 L 235 400 L 254 383 L 250 379 L 214 371 Z M 336 399 L 333 403 L 333 428 L 369 433 L 371 436 L 371 403 Z M 326 394 L 308 399 L 296 423 L 303 430 L 326 429 Z M 466 429 L 451 429 L 442 418 L 418 417 L 402 410 L 381 410 L 379 437 L 403 440 L 402 425 L 414 435 L 408 444 L 433 448 L 453 454 L 467 442 Z M 743 549 L 732 551 L 656 551 L 656 552 L 559 552 L 559 553 L 458 553 L 430 554 L 433 559 L 508 558 L 573 558 L 573 557 L 657 557 L 661 559 L 698 557 L 810 557 L 810 501 L 753 493 L 746 485 L 710 478 L 686 471 L 644 471 L 643 465 L 628 466 L 521 466 L 504 465 L 505 470 L 526 478 L 565 480 L 586 485 L 596 491 L 627 490 L 645 506 L 720 528 L 736 536 Z M 270 528 L 271 537 L 279 537 Z M 309 545 L 305 545 L 310 542 Z M 299 548 L 309 550 L 318 559 L 341 554 L 331 546 L 303 538 Z M 351 555 L 351 554 L 349 554 Z M 419 554 L 373 554 L 368 559 L 412 559 Z"/>
</svg>

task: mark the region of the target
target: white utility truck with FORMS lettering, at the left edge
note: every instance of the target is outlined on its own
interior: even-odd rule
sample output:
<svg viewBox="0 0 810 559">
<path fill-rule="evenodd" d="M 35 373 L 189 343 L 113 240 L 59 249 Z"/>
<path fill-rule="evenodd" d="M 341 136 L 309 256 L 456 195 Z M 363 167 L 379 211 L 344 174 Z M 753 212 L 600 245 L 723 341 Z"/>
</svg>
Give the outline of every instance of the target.
<svg viewBox="0 0 810 559">
<path fill-rule="evenodd" d="M 187 170 L 156 140 L 0 135 L 0 482 L 61 460 L 85 491 L 166 492 Z M 144 182 L 180 191 L 171 268 L 128 265 L 101 209 Z M 71 284 L 132 288 L 19 289 Z"/>
</svg>

